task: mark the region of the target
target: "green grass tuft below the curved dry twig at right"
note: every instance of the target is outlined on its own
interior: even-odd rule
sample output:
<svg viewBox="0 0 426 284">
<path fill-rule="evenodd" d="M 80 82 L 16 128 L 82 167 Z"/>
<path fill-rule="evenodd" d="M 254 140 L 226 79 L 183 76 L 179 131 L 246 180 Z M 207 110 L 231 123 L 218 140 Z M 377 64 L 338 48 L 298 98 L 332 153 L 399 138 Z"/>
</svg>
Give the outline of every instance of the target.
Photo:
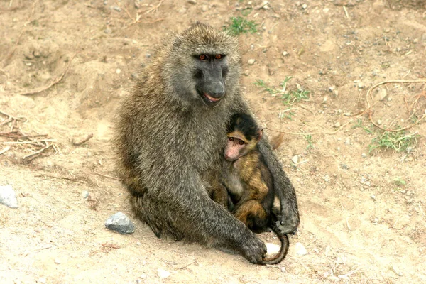
<svg viewBox="0 0 426 284">
<path fill-rule="evenodd" d="M 405 134 L 405 131 L 383 131 L 383 133 L 378 133 L 376 138 L 371 140 L 370 145 L 368 145 L 368 153 L 371 153 L 376 148 L 391 148 L 397 152 L 406 151 L 408 147 L 417 143 L 417 138 L 419 137 L 417 133 Z"/>
</svg>

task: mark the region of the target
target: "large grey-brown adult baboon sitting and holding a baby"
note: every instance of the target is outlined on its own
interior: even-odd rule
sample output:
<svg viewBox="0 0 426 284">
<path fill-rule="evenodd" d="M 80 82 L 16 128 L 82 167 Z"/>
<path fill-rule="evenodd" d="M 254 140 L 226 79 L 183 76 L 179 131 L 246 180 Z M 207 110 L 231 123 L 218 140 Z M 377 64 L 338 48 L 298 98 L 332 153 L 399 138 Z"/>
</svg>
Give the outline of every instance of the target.
<svg viewBox="0 0 426 284">
<path fill-rule="evenodd" d="M 231 249 L 260 263 L 263 241 L 208 193 L 222 170 L 227 122 L 232 114 L 252 115 L 240 94 L 240 61 L 237 39 L 205 24 L 171 37 L 121 104 L 117 169 L 133 212 L 156 236 Z M 280 229 L 295 231 L 295 190 L 266 139 L 259 149 L 280 196 Z"/>
</svg>

